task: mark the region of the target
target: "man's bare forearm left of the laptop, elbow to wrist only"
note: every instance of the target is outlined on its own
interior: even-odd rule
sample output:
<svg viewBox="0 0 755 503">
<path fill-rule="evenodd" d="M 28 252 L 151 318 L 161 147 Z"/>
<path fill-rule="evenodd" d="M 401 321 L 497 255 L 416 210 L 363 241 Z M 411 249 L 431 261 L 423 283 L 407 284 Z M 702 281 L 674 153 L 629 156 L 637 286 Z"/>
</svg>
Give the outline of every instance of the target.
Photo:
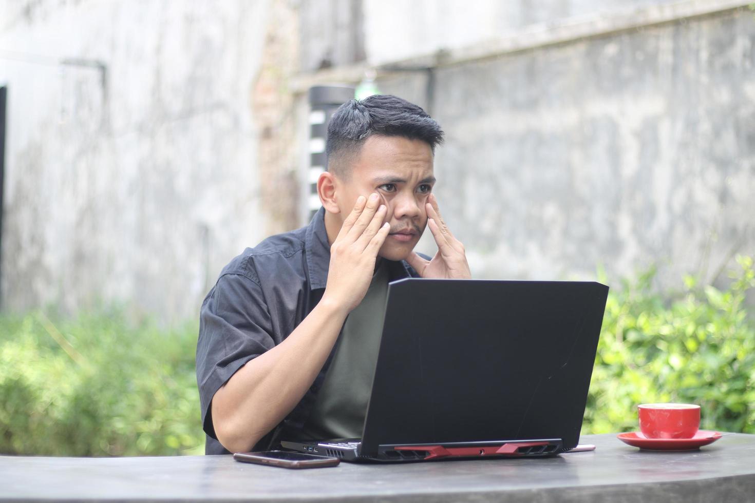
<svg viewBox="0 0 755 503">
<path fill-rule="evenodd" d="M 251 449 L 304 397 L 341 332 L 347 310 L 322 299 L 279 345 L 249 361 L 214 395 L 217 439 L 231 452 Z"/>
</svg>

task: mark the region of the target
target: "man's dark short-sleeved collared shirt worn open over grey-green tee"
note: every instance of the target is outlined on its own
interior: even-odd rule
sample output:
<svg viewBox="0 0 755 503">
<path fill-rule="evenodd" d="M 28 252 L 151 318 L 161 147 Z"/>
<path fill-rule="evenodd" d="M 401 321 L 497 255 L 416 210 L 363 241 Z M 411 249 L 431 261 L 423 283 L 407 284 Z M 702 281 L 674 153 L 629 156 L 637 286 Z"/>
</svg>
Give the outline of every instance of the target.
<svg viewBox="0 0 755 503">
<path fill-rule="evenodd" d="M 280 344 L 310 314 L 325 291 L 329 265 L 325 208 L 321 207 L 306 227 L 247 248 L 220 271 L 217 283 L 202 302 L 196 348 L 202 428 L 207 434 L 205 453 L 230 453 L 217 441 L 212 425 L 210 406 L 215 392 L 249 360 Z M 419 276 L 403 260 L 387 260 L 387 265 L 390 281 Z M 282 431 L 291 437 L 301 431 L 335 346 L 337 343 L 294 410 L 254 450 L 278 446 Z"/>
</svg>

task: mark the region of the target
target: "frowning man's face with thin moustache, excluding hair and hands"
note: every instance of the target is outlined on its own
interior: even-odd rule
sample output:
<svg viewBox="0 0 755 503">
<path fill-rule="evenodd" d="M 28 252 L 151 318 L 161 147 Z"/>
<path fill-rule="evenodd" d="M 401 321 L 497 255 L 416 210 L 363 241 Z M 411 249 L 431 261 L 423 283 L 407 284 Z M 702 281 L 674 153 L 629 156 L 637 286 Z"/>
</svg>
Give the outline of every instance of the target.
<svg viewBox="0 0 755 503">
<path fill-rule="evenodd" d="M 377 192 L 387 207 L 385 222 L 390 224 L 390 234 L 378 255 L 389 260 L 405 259 L 427 225 L 425 204 L 435 184 L 430 145 L 401 136 L 369 136 L 346 178 L 338 183 L 341 223 L 356 198 Z"/>
</svg>

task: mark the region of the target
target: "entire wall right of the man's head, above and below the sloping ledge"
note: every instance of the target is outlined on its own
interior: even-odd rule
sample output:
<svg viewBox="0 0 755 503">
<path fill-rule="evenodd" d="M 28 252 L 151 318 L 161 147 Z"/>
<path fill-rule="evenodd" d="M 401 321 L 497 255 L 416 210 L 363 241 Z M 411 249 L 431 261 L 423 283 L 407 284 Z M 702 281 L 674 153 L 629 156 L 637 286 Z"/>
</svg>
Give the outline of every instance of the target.
<svg viewBox="0 0 755 503">
<path fill-rule="evenodd" d="M 365 0 L 363 67 L 446 130 L 436 193 L 476 277 L 721 280 L 755 253 L 755 19 L 734 5 Z"/>
</svg>

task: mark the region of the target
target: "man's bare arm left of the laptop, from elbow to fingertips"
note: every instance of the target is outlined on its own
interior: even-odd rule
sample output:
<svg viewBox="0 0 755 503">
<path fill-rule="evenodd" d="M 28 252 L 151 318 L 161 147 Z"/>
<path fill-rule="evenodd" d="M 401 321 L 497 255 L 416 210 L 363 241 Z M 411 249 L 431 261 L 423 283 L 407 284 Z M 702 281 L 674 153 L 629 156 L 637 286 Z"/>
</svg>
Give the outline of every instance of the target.
<svg viewBox="0 0 755 503">
<path fill-rule="evenodd" d="M 283 342 L 246 363 L 214 394 L 212 424 L 226 449 L 250 450 L 307 393 L 347 315 L 367 293 L 390 229 L 381 227 L 385 213 L 377 198 L 357 199 L 331 246 L 328 284 L 319 304 Z"/>
</svg>

